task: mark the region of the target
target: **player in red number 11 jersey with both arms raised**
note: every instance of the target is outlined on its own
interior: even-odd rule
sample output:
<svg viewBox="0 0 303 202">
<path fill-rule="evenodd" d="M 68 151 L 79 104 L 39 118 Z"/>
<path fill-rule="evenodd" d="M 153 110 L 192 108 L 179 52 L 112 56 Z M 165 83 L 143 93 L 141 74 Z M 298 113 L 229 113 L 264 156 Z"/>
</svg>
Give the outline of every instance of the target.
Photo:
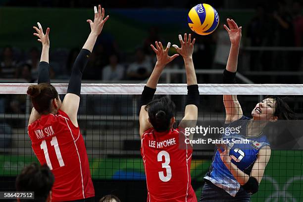
<svg viewBox="0 0 303 202">
<path fill-rule="evenodd" d="M 91 33 L 75 60 L 63 102 L 56 89 L 50 85 L 50 28 L 44 34 L 40 23 L 39 29 L 34 27 L 37 31 L 34 35 L 42 43 L 42 53 L 38 85 L 31 85 L 27 90 L 34 106 L 29 118 L 28 134 L 39 162 L 46 163 L 55 177 L 51 192 L 53 202 L 94 202 L 95 191 L 88 156 L 77 122 L 82 74 L 109 17 L 104 18 L 101 5 L 99 12 L 96 6 L 94 9 L 94 22 L 87 20 Z"/>
</svg>

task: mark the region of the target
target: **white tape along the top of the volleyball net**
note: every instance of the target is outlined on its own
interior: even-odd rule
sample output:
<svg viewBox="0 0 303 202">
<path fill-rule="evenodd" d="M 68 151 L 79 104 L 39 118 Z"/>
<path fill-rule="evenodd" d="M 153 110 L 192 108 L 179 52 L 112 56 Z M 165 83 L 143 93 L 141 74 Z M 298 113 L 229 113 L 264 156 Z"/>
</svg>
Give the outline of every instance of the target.
<svg viewBox="0 0 303 202">
<path fill-rule="evenodd" d="M 0 94 L 26 94 L 31 84 L 3 83 Z M 67 84 L 52 84 L 66 94 Z M 140 95 L 145 84 L 82 84 L 81 94 Z M 186 84 L 158 84 L 158 95 L 186 95 Z M 201 95 L 303 95 L 302 84 L 199 84 Z"/>
</svg>

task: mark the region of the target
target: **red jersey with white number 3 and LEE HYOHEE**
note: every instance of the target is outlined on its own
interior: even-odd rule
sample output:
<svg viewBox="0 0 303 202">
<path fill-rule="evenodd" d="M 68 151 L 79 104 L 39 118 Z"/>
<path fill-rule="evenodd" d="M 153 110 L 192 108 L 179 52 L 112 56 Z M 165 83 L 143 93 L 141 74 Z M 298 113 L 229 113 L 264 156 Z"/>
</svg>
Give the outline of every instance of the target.
<svg viewBox="0 0 303 202">
<path fill-rule="evenodd" d="M 151 128 L 142 136 L 148 202 L 197 202 L 190 175 L 193 151 L 179 149 L 179 142 L 186 145 L 179 133 L 183 139 L 178 128 L 162 133 Z"/>
</svg>

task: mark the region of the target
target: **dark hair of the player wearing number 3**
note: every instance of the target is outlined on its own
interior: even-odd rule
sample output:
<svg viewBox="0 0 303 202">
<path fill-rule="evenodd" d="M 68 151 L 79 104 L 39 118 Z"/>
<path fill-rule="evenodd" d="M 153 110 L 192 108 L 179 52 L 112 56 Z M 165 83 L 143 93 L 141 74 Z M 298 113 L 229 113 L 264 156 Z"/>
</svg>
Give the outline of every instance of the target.
<svg viewBox="0 0 303 202">
<path fill-rule="evenodd" d="M 145 106 L 149 112 L 152 127 L 157 132 L 164 132 L 170 129 L 170 120 L 174 117 L 176 106 L 167 97 L 155 99 Z"/>
</svg>

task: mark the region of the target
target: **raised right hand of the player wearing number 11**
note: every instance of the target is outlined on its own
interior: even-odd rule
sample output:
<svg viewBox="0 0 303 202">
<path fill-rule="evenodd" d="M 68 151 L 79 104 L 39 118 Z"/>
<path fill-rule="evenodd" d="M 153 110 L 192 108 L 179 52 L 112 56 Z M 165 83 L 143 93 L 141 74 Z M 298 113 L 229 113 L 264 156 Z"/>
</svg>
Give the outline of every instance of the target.
<svg viewBox="0 0 303 202">
<path fill-rule="evenodd" d="M 108 20 L 109 15 L 107 15 L 104 18 L 104 8 L 102 8 L 101 12 L 101 5 L 99 5 L 99 10 L 97 11 L 97 7 L 94 7 L 95 10 L 95 19 L 94 22 L 92 20 L 87 20 L 88 23 L 90 23 L 91 26 L 91 33 L 96 34 L 97 36 L 100 35 L 102 28 L 104 26 L 104 23 Z M 104 19 L 103 19 L 104 18 Z"/>
</svg>

